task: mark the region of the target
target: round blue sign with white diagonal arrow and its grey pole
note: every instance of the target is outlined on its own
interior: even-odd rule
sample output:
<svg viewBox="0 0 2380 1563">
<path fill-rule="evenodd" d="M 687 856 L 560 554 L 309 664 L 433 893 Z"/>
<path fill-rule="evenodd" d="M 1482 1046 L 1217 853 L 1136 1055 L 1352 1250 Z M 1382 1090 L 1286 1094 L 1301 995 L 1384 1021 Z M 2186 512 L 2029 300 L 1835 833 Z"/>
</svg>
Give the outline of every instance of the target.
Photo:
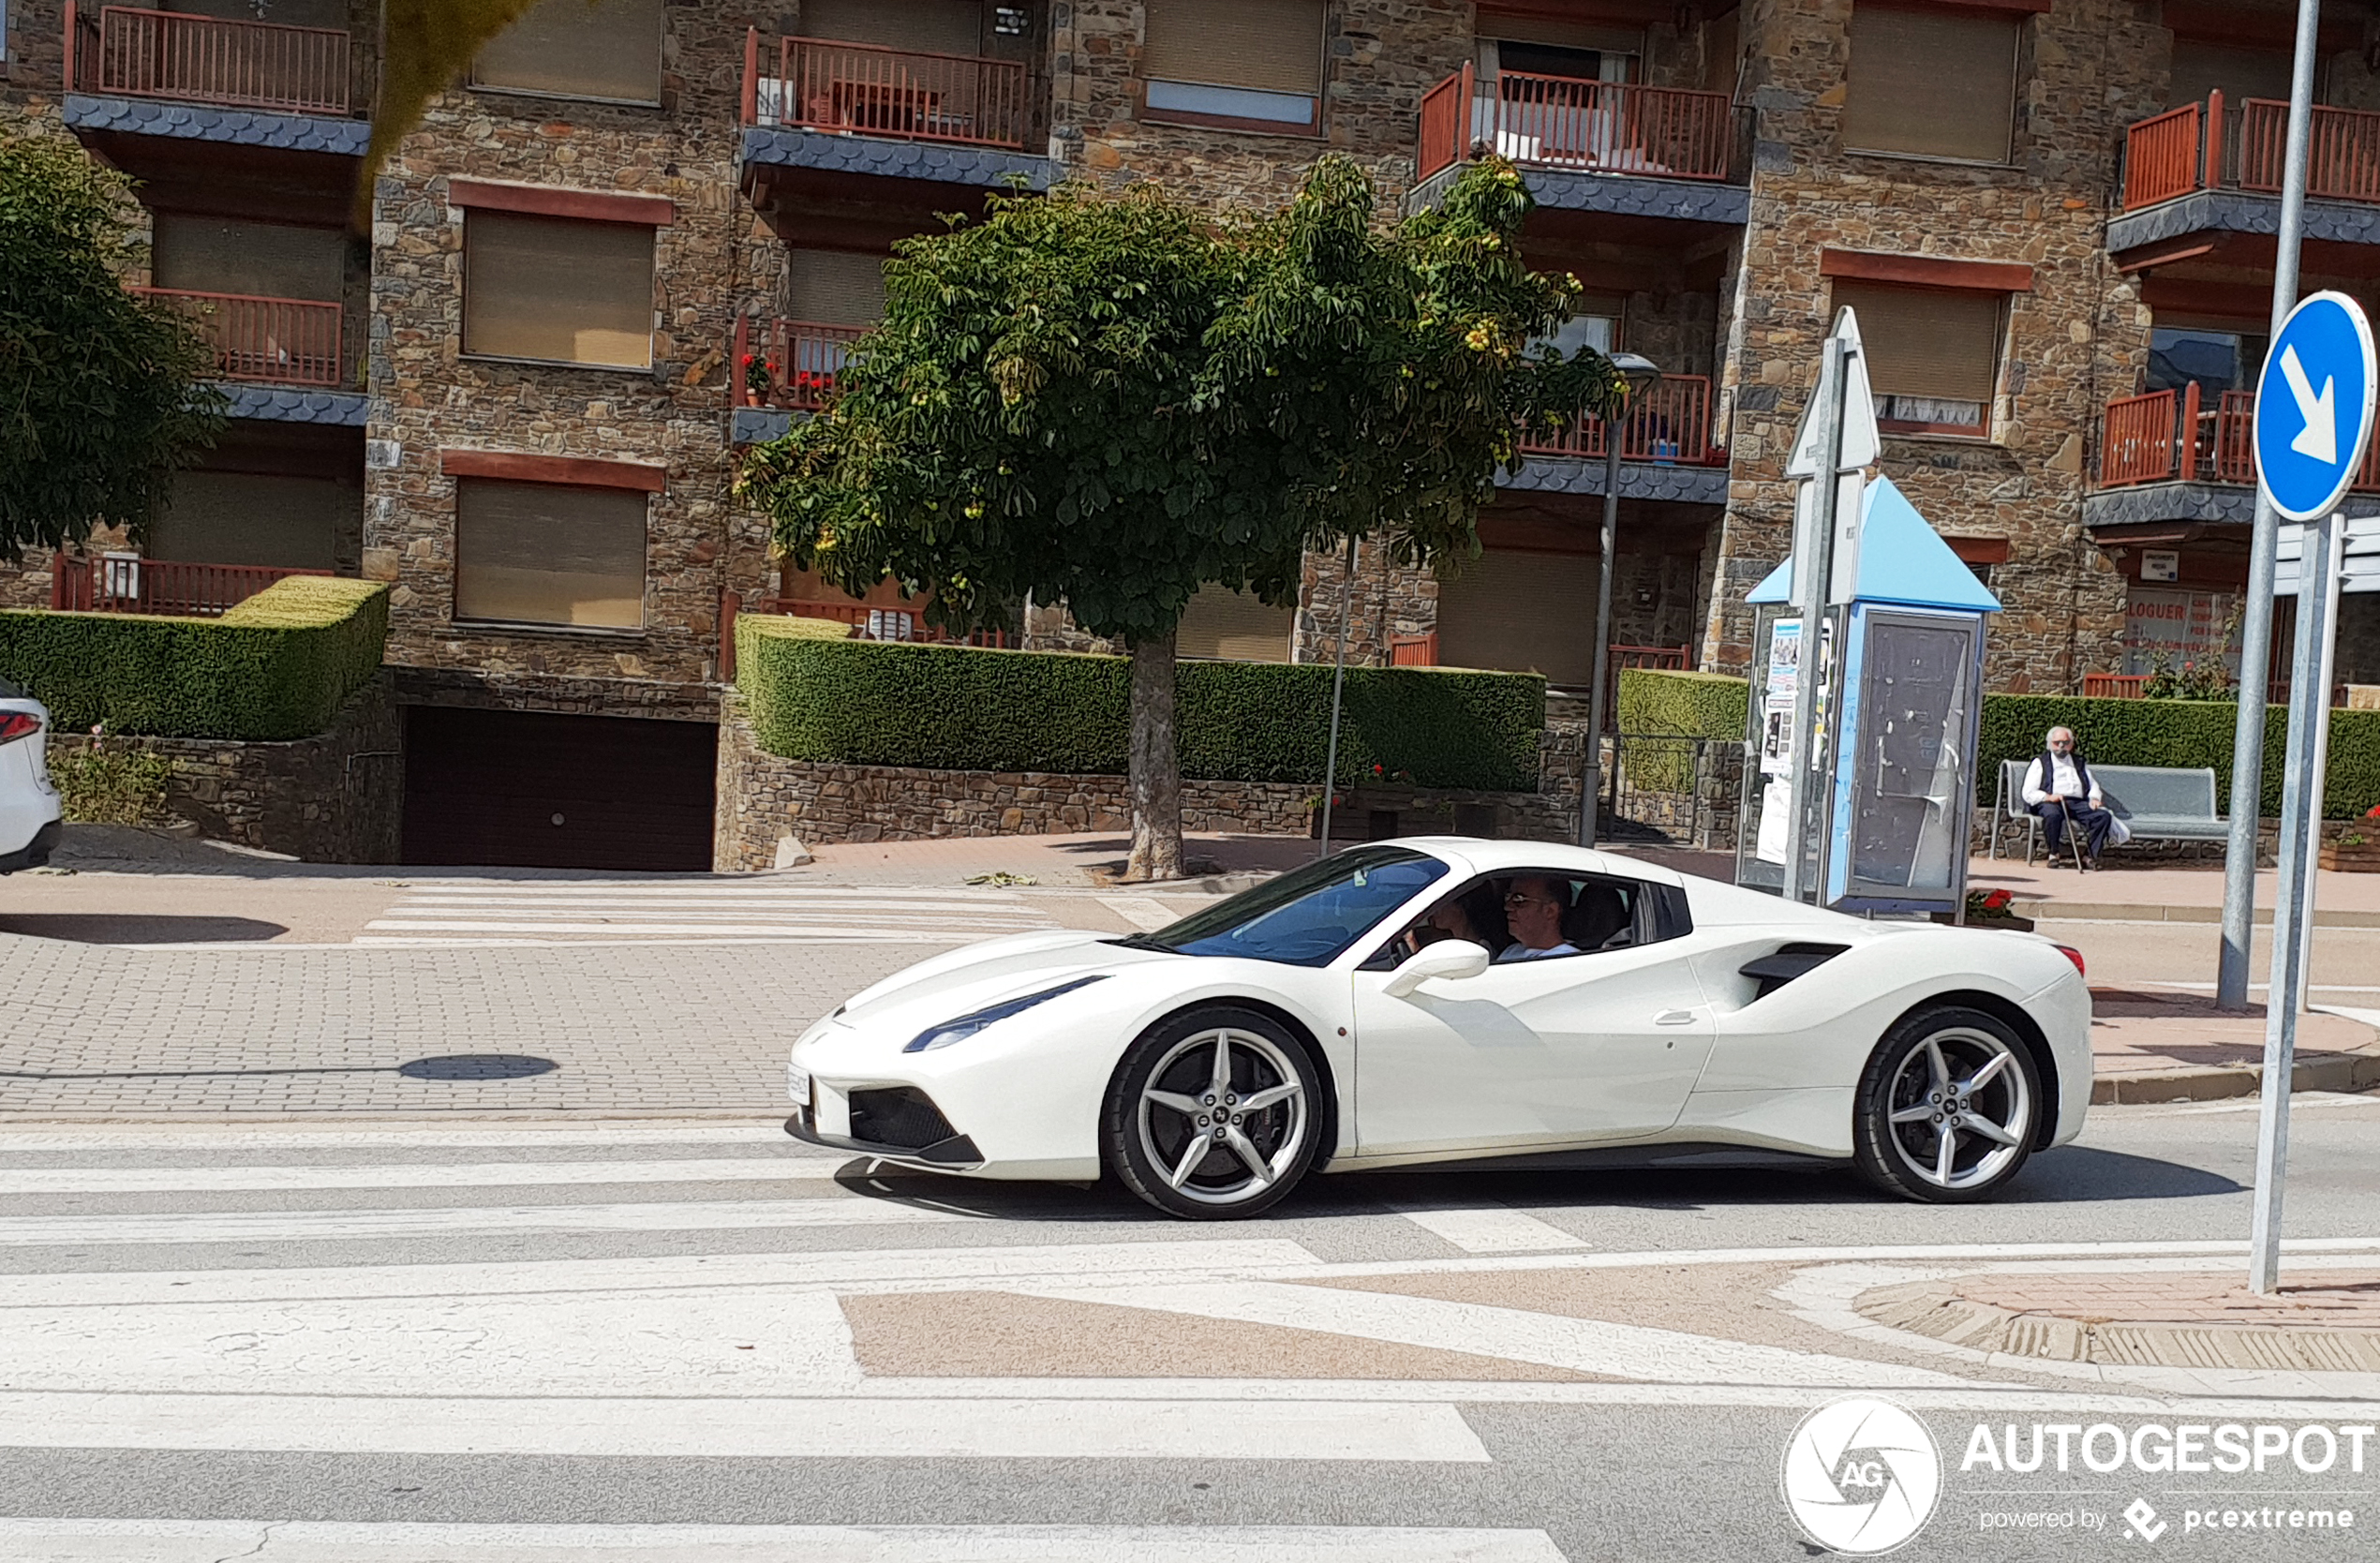
<svg viewBox="0 0 2380 1563">
<path fill-rule="evenodd" d="M 2280 1194 L 2290 1163 L 2290 1075 L 2297 1011 L 2313 949 L 2313 861 L 2323 823 L 2330 742 L 2330 661 L 2337 640 L 2347 519 L 2340 500 L 2373 433 L 2373 328 L 2344 293 L 2306 297 L 2263 357 L 2256 381 L 2256 485 L 2271 507 L 2306 523 L 2297 573 L 2297 654 L 2290 671 L 2290 747 L 2280 783 L 2280 890 L 2273 973 L 2263 1004 L 2263 1080 L 2256 1111 L 2256 1218 L 2249 1289 L 2280 1285 Z M 2232 816 L 2256 799 L 2230 799 Z"/>
</svg>

